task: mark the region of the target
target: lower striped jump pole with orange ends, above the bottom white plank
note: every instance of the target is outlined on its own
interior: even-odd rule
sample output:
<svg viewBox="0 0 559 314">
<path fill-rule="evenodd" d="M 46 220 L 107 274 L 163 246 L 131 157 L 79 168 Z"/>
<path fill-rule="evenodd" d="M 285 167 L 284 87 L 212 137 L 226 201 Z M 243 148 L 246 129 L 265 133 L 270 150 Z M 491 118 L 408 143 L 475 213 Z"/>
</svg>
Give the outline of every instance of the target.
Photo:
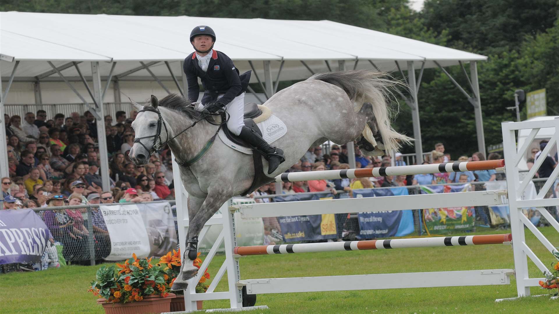
<svg viewBox="0 0 559 314">
<path fill-rule="evenodd" d="M 310 253 L 331 251 L 357 251 L 378 249 L 405 249 L 405 248 L 427 248 L 430 246 L 461 246 L 481 244 L 503 244 L 512 241 L 511 234 L 499 235 L 473 235 L 473 236 L 442 236 L 424 237 L 413 239 L 392 240 L 362 240 L 345 242 L 323 242 L 281 245 L 257 245 L 236 246 L 234 254 L 248 255 L 273 255 L 288 253 Z"/>
</svg>

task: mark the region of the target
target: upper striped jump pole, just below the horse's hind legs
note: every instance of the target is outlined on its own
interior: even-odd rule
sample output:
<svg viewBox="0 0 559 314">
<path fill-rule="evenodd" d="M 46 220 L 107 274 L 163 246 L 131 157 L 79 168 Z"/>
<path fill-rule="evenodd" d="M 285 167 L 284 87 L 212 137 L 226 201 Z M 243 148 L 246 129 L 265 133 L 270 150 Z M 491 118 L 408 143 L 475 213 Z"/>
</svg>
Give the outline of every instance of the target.
<svg viewBox="0 0 559 314">
<path fill-rule="evenodd" d="M 390 166 L 361 169 L 323 170 L 309 172 L 286 172 L 276 177 L 276 182 L 294 182 L 307 180 L 334 180 L 345 178 L 386 177 L 387 175 L 408 175 L 444 173 L 473 170 L 493 170 L 505 166 L 505 160 L 463 161 L 461 163 Z"/>
</svg>

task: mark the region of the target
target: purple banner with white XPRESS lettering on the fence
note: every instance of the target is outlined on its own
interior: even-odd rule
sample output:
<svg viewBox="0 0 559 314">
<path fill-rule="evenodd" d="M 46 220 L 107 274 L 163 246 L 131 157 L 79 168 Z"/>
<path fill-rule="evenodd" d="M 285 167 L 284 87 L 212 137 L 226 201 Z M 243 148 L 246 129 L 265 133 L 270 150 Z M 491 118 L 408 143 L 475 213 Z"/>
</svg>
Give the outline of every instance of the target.
<svg viewBox="0 0 559 314">
<path fill-rule="evenodd" d="M 50 237 L 34 211 L 0 210 L 0 264 L 40 261 Z"/>
</svg>

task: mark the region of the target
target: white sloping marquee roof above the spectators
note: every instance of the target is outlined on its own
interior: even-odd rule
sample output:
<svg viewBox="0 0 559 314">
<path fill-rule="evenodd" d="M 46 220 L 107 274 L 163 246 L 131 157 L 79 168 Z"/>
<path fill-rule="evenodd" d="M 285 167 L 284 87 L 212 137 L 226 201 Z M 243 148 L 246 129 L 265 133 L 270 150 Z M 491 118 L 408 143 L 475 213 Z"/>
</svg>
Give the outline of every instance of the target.
<svg viewBox="0 0 559 314">
<path fill-rule="evenodd" d="M 348 60 L 347 68 L 372 68 L 373 61 L 382 70 L 395 70 L 395 60 L 417 61 L 420 68 L 458 64 L 458 61 L 481 61 L 486 56 L 428 44 L 427 42 L 368 30 L 331 21 L 292 21 L 240 18 L 160 17 L 74 15 L 59 13 L 0 12 L 0 54 L 21 63 L 16 78 L 33 78 L 52 70 L 45 61 L 55 66 L 69 61 L 102 61 L 102 75 L 108 75 L 111 61 L 117 65 L 113 75 L 140 66 L 139 61 L 169 61 L 175 75 L 180 77 L 179 61 L 193 49 L 188 42 L 196 25 L 210 25 L 217 34 L 215 48 L 224 51 L 238 68 L 250 69 L 248 60 L 286 61 L 282 80 L 302 79 L 310 72 L 300 63 L 305 60 L 315 71 L 327 70 L 324 60 L 337 69 L 336 60 Z M 5 60 L 6 58 L 3 58 Z M 10 75 L 15 62 L 2 61 L 0 73 Z M 262 75 L 262 62 L 255 62 Z M 91 75 L 89 63 L 80 63 L 80 71 Z M 165 64 L 150 68 L 156 75 L 169 77 Z M 75 68 L 62 71 L 75 77 Z M 254 75 L 253 75 L 254 76 Z M 51 77 L 58 79 L 54 73 Z M 150 78 L 146 70 L 130 77 Z M 273 77 L 275 79 L 275 76 Z"/>
</svg>

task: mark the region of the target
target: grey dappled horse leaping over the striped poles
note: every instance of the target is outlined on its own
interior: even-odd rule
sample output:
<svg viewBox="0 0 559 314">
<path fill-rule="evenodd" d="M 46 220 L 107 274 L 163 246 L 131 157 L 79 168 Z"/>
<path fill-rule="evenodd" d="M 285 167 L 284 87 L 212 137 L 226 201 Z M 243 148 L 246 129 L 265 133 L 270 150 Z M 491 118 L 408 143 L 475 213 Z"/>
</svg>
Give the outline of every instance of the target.
<svg viewBox="0 0 559 314">
<path fill-rule="evenodd" d="M 391 95 L 389 89 L 397 83 L 382 79 L 383 75 L 366 70 L 316 74 L 268 99 L 265 105 L 287 126 L 287 134 L 273 143 L 285 151 L 286 160 L 269 175 L 269 182 L 295 164 L 310 147 L 327 140 L 337 144 L 364 143 L 359 148 L 365 155 L 383 155 L 382 150 L 390 152 L 399 148 L 400 143 L 409 142 L 409 137 L 397 133 L 390 125 L 392 109 L 387 99 Z M 205 113 L 193 110 L 189 104 L 174 94 L 161 101 L 151 96 L 145 106 L 134 103 L 139 113 L 132 123 L 136 140 L 130 158 L 135 164 L 148 163 L 151 153 L 167 141 L 178 161 L 191 160 L 202 151 L 217 126 L 203 120 Z M 192 126 L 198 120 L 201 121 Z M 363 141 L 366 126 L 371 128 L 375 146 Z M 267 161 L 263 165 L 266 173 Z M 197 236 L 206 221 L 229 198 L 247 191 L 252 184 L 253 157 L 229 148 L 217 137 L 200 160 L 181 166 L 180 172 L 188 192 L 190 219 L 185 255 L 188 252 L 188 259 L 194 260 Z M 186 280 L 198 271 L 184 257 L 182 276 L 175 280 L 173 290 L 185 289 Z"/>
</svg>

